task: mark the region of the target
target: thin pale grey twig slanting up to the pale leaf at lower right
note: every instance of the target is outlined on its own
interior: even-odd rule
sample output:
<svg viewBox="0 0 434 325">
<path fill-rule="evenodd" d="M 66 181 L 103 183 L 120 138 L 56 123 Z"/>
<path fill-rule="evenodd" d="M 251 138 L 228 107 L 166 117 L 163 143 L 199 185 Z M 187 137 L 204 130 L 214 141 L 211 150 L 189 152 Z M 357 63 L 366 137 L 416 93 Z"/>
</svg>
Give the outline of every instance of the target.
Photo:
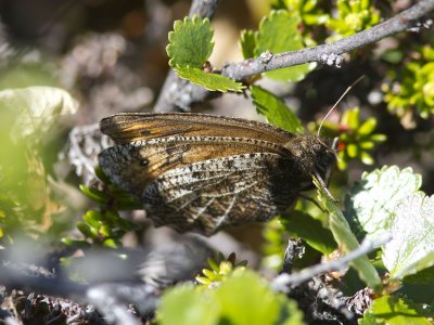
<svg viewBox="0 0 434 325">
<path fill-rule="evenodd" d="M 354 261 L 357 258 L 363 256 L 365 253 L 368 253 L 373 249 L 386 244 L 387 242 L 391 240 L 391 238 L 392 238 L 391 235 L 386 234 L 374 242 L 365 239 L 360 244 L 360 247 L 358 249 L 348 252 L 346 256 L 344 256 L 339 260 L 333 260 L 327 263 L 317 264 L 291 275 L 282 273 L 272 281 L 271 288 L 276 291 L 288 294 L 290 291 L 291 286 L 297 286 L 312 278 L 314 276 L 317 276 L 326 272 L 345 269 L 350 261 Z"/>
</svg>

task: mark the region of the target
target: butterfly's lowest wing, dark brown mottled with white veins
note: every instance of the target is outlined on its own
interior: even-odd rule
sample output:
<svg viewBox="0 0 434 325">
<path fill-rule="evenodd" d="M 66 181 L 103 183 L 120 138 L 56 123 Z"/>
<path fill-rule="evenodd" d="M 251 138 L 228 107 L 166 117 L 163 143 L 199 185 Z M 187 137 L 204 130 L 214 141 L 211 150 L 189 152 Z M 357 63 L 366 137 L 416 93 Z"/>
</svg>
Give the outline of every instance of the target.
<svg viewBox="0 0 434 325">
<path fill-rule="evenodd" d="M 269 220 L 290 207 L 302 190 L 291 168 L 290 160 L 270 153 L 200 161 L 162 174 L 141 199 L 155 225 L 210 235 L 222 226 Z"/>
</svg>

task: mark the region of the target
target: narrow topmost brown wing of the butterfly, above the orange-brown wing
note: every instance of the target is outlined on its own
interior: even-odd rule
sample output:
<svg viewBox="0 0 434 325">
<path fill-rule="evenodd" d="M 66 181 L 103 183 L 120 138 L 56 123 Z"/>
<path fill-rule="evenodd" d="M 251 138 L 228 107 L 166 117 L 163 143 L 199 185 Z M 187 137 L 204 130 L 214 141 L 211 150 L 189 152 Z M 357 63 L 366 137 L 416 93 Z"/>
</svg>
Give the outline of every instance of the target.
<svg viewBox="0 0 434 325">
<path fill-rule="evenodd" d="M 102 119 L 100 128 L 119 144 L 173 135 L 250 138 L 283 144 L 295 136 L 258 121 L 192 113 L 117 114 Z"/>
</svg>

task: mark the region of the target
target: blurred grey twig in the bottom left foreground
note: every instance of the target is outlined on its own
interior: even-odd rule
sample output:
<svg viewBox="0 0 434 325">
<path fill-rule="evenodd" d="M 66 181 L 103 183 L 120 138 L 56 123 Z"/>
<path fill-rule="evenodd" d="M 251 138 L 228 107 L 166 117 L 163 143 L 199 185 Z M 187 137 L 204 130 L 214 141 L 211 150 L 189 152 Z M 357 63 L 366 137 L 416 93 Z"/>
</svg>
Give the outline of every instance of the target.
<svg viewBox="0 0 434 325">
<path fill-rule="evenodd" d="M 138 325 L 142 324 L 138 321 L 137 315 L 128 310 L 129 303 L 136 303 L 138 309 L 144 315 L 151 314 L 156 309 L 156 301 L 161 296 L 161 291 L 150 284 L 143 283 L 113 283 L 113 284 L 95 284 L 84 285 L 71 282 L 65 278 L 55 278 L 43 275 L 41 272 L 34 270 L 34 275 L 25 274 L 22 270 L 14 270 L 11 266 L 0 265 L 0 284 L 8 288 L 22 289 L 26 291 L 35 291 L 49 300 L 53 300 L 50 304 L 64 304 L 63 310 L 59 310 L 59 314 L 66 313 L 68 307 L 71 313 L 74 313 L 73 301 L 67 301 L 74 297 L 80 301 L 97 307 L 98 311 L 104 316 L 110 324 L 116 325 Z M 50 298 L 60 297 L 60 298 Z M 30 299 L 31 300 L 31 299 Z M 61 303 L 63 301 L 63 303 Z M 86 304 L 76 306 L 76 315 L 82 317 Z M 94 316 L 87 315 L 87 317 Z M 0 310 L 0 320 L 9 317 L 4 311 Z M 10 320 L 12 322 L 12 320 Z M 12 323 L 11 323 L 12 324 Z"/>
</svg>

